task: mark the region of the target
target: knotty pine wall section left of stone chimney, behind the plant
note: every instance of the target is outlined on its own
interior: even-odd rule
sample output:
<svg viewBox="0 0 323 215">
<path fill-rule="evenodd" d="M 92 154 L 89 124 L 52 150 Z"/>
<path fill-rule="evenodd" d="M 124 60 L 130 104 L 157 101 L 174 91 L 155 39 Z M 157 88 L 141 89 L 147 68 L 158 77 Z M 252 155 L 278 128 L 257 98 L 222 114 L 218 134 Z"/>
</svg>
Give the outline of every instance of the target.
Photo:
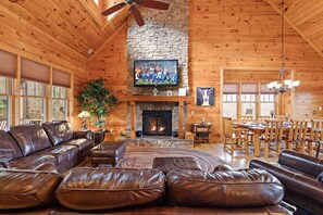
<svg viewBox="0 0 323 215">
<path fill-rule="evenodd" d="M 127 92 L 127 28 L 126 25 L 90 61 L 90 79 L 102 77 L 107 87 L 120 98 Z M 115 140 L 125 134 L 127 103 L 120 102 L 108 115 L 108 139 Z"/>
</svg>

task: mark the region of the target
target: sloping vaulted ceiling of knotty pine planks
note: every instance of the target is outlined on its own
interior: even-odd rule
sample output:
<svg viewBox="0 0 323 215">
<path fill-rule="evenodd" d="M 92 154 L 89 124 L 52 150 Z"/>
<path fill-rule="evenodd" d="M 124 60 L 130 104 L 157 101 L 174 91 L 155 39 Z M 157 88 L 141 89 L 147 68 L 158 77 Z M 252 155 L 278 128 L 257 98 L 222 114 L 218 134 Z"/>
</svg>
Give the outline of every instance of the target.
<svg viewBox="0 0 323 215">
<path fill-rule="evenodd" d="M 266 0 L 278 13 L 282 0 Z M 323 56 L 323 1 L 285 0 L 285 20 Z M 2 0 L 0 21 L 39 40 L 53 40 L 62 50 L 89 58 L 125 23 L 125 8 L 110 22 L 100 15 L 92 0 Z M 49 45 L 50 46 L 50 45 Z"/>
</svg>

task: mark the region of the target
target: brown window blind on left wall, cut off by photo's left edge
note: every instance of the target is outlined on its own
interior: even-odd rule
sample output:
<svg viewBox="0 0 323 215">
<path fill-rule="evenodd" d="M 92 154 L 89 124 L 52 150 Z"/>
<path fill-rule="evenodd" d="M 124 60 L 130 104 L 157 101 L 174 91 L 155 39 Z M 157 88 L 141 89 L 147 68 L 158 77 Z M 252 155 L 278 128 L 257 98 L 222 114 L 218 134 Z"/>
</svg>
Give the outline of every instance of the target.
<svg viewBox="0 0 323 215">
<path fill-rule="evenodd" d="M 0 75 L 15 77 L 16 55 L 0 50 Z"/>
</svg>

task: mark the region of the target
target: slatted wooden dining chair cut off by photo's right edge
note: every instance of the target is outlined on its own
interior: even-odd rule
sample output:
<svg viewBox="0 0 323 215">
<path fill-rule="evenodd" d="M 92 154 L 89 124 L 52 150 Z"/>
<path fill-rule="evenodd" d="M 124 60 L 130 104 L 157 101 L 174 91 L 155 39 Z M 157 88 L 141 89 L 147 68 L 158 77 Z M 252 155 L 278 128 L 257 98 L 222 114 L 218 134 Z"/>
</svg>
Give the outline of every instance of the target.
<svg viewBox="0 0 323 215">
<path fill-rule="evenodd" d="M 313 152 L 316 151 L 315 156 L 319 157 L 322 141 L 323 119 L 312 119 L 310 135 L 308 138 L 308 150 L 310 155 L 313 155 Z"/>
</svg>

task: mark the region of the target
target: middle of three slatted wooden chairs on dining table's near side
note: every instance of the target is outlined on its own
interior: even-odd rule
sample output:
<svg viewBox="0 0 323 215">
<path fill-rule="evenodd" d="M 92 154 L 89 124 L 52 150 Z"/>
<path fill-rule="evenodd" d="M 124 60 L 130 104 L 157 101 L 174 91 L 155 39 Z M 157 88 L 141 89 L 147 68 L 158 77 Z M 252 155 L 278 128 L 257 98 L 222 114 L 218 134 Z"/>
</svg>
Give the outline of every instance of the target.
<svg viewBox="0 0 323 215">
<path fill-rule="evenodd" d="M 306 142 L 308 134 L 308 122 L 290 119 L 287 148 L 288 150 L 306 152 Z M 295 146 L 295 148 L 294 148 Z"/>
</svg>

